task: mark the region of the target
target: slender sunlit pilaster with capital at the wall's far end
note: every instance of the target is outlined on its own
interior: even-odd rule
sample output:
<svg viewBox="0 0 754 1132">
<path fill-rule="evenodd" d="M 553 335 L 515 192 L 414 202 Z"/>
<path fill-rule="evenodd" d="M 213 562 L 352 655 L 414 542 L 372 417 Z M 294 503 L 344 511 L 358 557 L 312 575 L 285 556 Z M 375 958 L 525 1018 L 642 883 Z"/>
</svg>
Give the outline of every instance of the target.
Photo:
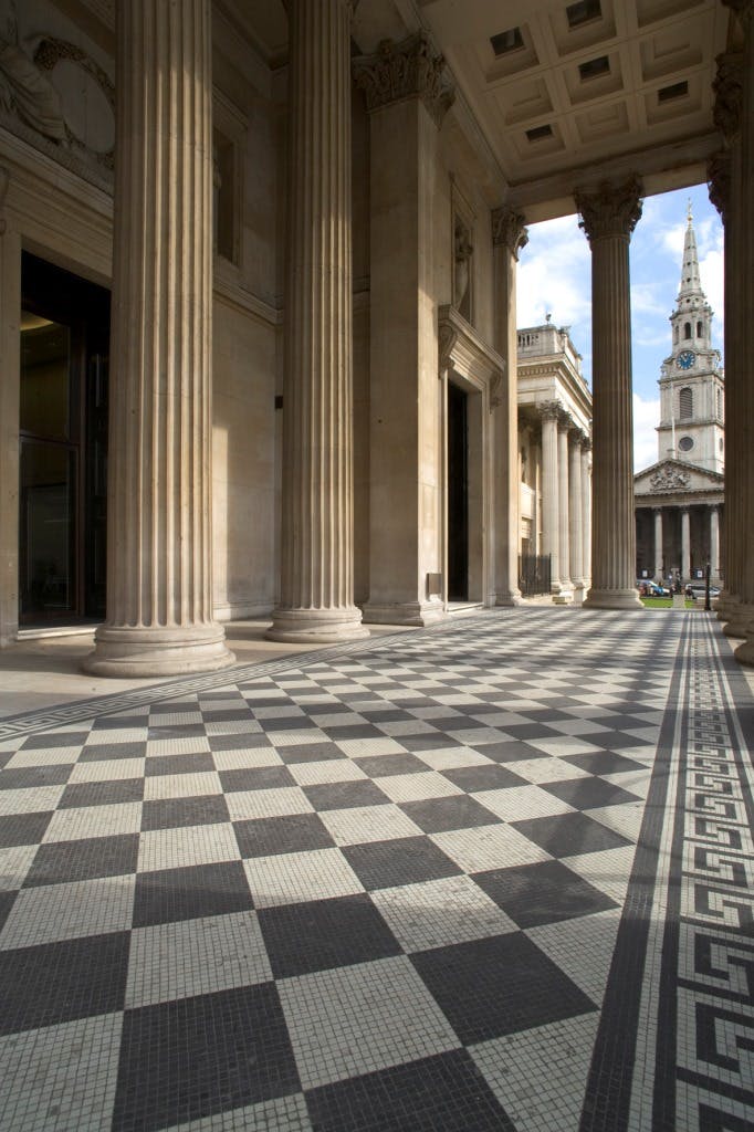
<svg viewBox="0 0 754 1132">
<path fill-rule="evenodd" d="M 521 603 L 519 589 L 519 380 L 516 329 L 516 264 L 529 237 L 520 213 L 504 206 L 492 220 L 495 273 L 494 345 L 505 359 L 503 386 L 492 411 L 495 600 L 498 606 Z"/>
</svg>

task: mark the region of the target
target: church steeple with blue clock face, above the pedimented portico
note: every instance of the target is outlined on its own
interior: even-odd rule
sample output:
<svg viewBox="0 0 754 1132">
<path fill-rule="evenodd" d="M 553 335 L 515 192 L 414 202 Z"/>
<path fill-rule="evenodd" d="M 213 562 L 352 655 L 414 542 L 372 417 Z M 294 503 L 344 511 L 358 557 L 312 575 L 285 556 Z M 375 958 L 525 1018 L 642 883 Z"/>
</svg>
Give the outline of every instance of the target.
<svg viewBox="0 0 754 1132">
<path fill-rule="evenodd" d="M 672 352 L 662 363 L 658 460 L 682 460 L 710 472 L 725 470 L 725 393 L 720 351 L 712 346 L 712 308 L 699 272 L 688 205 L 684 263 L 670 315 Z"/>
</svg>

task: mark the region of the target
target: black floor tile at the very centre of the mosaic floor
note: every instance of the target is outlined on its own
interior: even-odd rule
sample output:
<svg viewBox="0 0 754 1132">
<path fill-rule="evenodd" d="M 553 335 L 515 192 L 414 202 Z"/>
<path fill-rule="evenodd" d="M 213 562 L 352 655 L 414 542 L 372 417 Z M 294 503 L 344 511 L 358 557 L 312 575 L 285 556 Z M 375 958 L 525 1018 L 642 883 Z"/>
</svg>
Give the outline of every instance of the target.
<svg viewBox="0 0 754 1132">
<path fill-rule="evenodd" d="M 365 889 L 394 889 L 457 875 L 461 869 L 429 838 L 396 838 L 341 850 Z"/>
</svg>

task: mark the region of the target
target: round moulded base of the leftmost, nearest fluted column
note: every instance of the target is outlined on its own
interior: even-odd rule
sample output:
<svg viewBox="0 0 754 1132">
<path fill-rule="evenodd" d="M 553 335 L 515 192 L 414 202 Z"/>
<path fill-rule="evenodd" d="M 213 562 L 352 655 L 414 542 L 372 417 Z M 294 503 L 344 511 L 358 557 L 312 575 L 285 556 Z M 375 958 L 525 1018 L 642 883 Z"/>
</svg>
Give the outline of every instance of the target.
<svg viewBox="0 0 754 1132">
<path fill-rule="evenodd" d="M 186 676 L 235 662 L 217 624 L 175 628 L 102 625 L 82 668 L 93 676 Z"/>
</svg>

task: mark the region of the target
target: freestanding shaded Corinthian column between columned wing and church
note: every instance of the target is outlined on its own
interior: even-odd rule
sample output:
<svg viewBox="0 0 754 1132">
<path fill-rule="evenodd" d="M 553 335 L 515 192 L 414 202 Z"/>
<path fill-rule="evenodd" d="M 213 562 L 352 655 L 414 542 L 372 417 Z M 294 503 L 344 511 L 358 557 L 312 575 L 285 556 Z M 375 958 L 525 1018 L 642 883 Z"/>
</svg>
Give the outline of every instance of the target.
<svg viewBox="0 0 754 1132">
<path fill-rule="evenodd" d="M 636 529 L 631 388 L 628 243 L 641 216 L 640 185 L 577 192 L 592 249 L 593 541 L 584 606 L 643 609 L 634 584 Z"/>
</svg>

